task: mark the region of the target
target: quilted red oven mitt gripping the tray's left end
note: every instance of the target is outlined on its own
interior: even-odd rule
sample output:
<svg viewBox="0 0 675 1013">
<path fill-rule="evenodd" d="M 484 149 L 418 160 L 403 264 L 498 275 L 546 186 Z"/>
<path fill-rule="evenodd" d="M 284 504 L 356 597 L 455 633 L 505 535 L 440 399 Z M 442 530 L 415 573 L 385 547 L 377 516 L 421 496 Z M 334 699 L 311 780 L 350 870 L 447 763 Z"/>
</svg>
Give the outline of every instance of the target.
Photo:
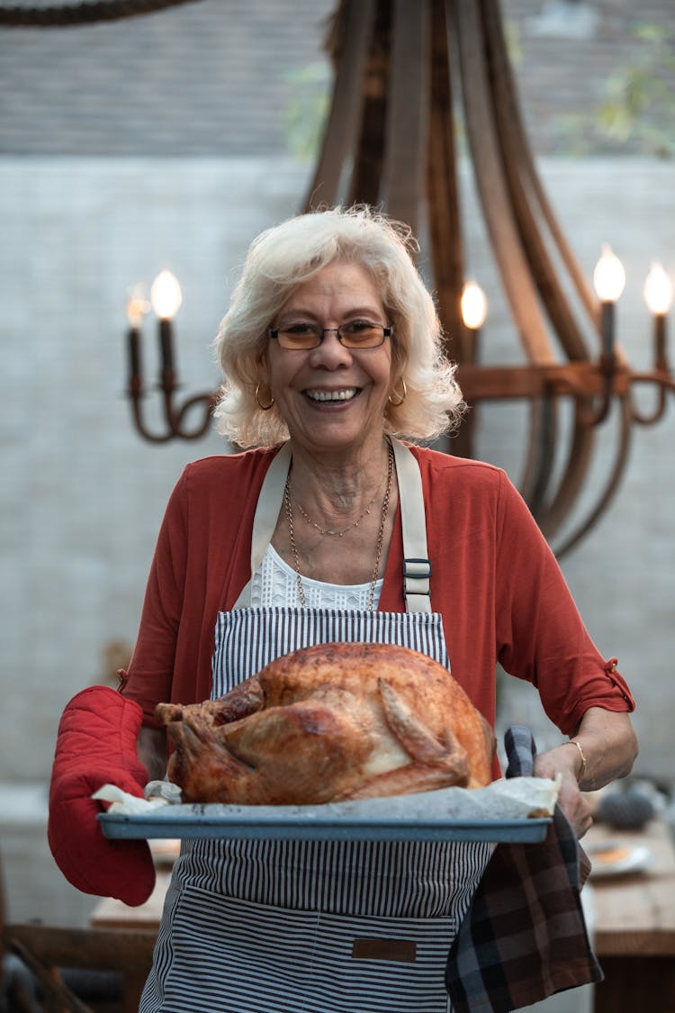
<svg viewBox="0 0 675 1013">
<path fill-rule="evenodd" d="M 137 906 L 150 897 L 155 867 L 147 841 L 110 841 L 91 797 L 103 784 L 143 796 L 148 772 L 136 752 L 143 711 L 108 686 L 92 686 L 66 707 L 50 786 L 48 838 L 57 865 L 85 893 Z"/>
</svg>

